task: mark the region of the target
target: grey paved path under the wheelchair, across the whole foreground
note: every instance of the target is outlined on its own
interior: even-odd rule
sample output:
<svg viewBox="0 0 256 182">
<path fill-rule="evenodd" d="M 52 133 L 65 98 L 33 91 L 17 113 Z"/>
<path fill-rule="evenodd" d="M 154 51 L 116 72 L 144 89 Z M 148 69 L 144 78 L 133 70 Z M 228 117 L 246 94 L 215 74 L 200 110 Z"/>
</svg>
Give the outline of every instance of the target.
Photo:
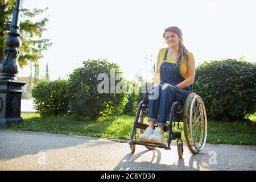
<svg viewBox="0 0 256 182">
<path fill-rule="evenodd" d="M 256 170 L 256 147 L 207 144 L 200 154 L 184 147 L 147 150 L 127 141 L 0 130 L 0 170 Z"/>
</svg>

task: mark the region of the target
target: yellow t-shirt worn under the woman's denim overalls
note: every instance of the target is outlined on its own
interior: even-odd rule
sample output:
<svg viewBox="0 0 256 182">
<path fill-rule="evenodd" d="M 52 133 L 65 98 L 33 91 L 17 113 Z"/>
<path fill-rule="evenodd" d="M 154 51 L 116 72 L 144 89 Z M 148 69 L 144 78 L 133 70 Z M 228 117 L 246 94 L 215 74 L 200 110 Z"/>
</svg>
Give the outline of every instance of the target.
<svg viewBox="0 0 256 182">
<path fill-rule="evenodd" d="M 159 71 L 159 75 L 160 75 L 160 67 L 163 63 L 163 59 L 164 59 L 164 54 L 166 53 L 166 48 L 162 48 L 160 49 L 159 53 L 158 53 L 158 59 L 160 60 L 159 65 L 158 65 L 158 71 Z M 168 63 L 176 63 L 176 58 L 175 59 L 171 59 L 170 56 L 167 55 L 166 58 L 166 62 Z M 195 63 L 195 59 L 194 56 L 192 54 L 192 52 L 188 52 L 188 62 L 189 63 Z M 184 57 L 182 57 L 181 63 L 180 63 L 180 73 L 181 76 L 183 78 L 187 78 L 187 65 L 185 64 L 185 59 Z"/>
</svg>

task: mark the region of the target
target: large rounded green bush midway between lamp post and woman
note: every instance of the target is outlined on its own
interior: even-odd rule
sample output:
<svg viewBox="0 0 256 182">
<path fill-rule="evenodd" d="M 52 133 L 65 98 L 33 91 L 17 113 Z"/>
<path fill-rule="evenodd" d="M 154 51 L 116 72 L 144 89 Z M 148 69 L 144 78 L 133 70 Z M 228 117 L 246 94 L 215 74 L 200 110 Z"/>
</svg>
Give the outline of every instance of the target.
<svg viewBox="0 0 256 182">
<path fill-rule="evenodd" d="M 111 92 L 110 77 L 114 85 L 121 81 L 125 81 L 122 75 L 119 80 L 110 75 L 114 70 L 115 76 L 121 75 L 122 72 L 117 64 L 109 63 L 106 60 L 87 60 L 84 61 L 81 68 L 77 68 L 69 75 L 69 105 L 71 106 L 71 114 L 81 117 L 91 117 L 96 119 L 101 116 L 114 116 L 121 114 L 128 100 L 127 90 L 124 93 Z M 98 80 L 100 73 L 104 73 L 108 80 Z M 102 86 L 107 93 L 98 92 L 98 84 L 106 81 L 108 86 Z M 112 82 L 113 83 L 113 82 Z"/>
</svg>

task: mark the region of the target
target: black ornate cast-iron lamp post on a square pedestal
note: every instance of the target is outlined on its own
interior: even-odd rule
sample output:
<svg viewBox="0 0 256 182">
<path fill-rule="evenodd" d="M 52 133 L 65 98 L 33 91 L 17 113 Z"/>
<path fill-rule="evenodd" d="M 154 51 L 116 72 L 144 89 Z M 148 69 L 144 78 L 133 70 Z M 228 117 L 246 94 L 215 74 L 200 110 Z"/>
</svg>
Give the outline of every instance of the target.
<svg viewBox="0 0 256 182">
<path fill-rule="evenodd" d="M 20 102 L 22 86 L 26 82 L 17 81 L 19 48 L 22 45 L 19 39 L 20 0 L 16 1 L 10 31 L 4 40 L 7 48 L 3 49 L 4 57 L 0 64 L 0 125 L 23 122 L 20 117 Z"/>
</svg>

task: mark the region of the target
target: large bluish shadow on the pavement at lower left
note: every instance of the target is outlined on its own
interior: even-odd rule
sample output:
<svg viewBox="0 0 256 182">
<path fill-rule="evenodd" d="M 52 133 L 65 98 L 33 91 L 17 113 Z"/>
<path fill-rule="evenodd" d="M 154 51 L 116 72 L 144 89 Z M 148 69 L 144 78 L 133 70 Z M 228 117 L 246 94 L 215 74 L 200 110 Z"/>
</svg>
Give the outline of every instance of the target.
<svg viewBox="0 0 256 182">
<path fill-rule="evenodd" d="M 23 155 L 38 154 L 42 151 L 77 146 L 79 144 L 93 145 L 101 138 L 67 136 L 26 131 L 0 130 L 0 159 L 13 159 Z M 98 144 L 110 143 L 102 140 Z"/>
</svg>

